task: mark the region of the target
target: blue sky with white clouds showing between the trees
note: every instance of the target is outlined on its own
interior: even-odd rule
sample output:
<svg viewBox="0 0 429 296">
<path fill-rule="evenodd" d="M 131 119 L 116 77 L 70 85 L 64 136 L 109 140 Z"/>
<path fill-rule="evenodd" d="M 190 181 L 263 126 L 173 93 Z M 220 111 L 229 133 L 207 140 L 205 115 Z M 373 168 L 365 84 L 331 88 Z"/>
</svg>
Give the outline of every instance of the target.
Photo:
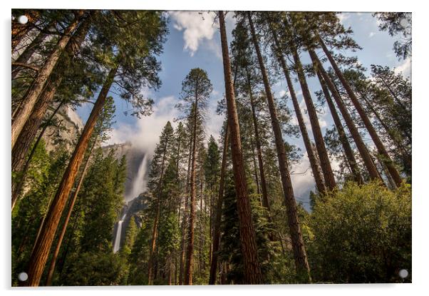
<svg viewBox="0 0 429 296">
<path fill-rule="evenodd" d="M 164 51 L 159 57 L 162 63 L 162 71 L 159 73 L 162 86 L 158 91 L 143 89 L 145 96 L 153 98 L 155 101 L 153 114 L 140 119 L 129 115 L 126 116 L 124 112 L 130 110 L 131 107 L 115 94 L 110 93 L 115 98 L 116 123 L 113 126 L 110 140 L 106 144 L 130 141 L 133 146 L 142 149 L 148 155 L 152 155 L 165 123 L 170 121 L 173 126 L 177 124 L 174 119 L 180 116 L 180 113 L 175 108 L 175 105 L 180 102 L 182 81 L 190 69 L 196 67 L 207 71 L 213 84 L 213 92 L 207 112 L 207 138 L 213 135 L 219 139 L 224 117 L 216 114 L 216 106 L 217 101 L 224 94 L 224 81 L 219 28 L 214 22 L 214 14 L 207 11 L 170 11 L 168 14 L 170 33 L 164 44 Z M 391 68 L 396 68 L 396 72 L 403 73 L 403 76 L 410 77 L 410 59 L 398 61 L 393 52 L 393 43 L 396 38 L 389 36 L 385 31 L 379 31 L 377 20 L 371 16 L 371 13 L 343 13 L 339 17 L 344 26 L 350 26 L 353 29 L 353 39 L 363 48 L 361 51 L 354 53 L 343 51 L 344 55 L 357 56 L 358 61 L 367 69 L 370 68 L 371 64 L 390 66 Z M 231 31 L 234 28 L 234 22 L 233 14 L 229 12 L 226 16 L 228 42 L 232 41 Z M 304 63 L 310 62 L 307 53 L 302 53 L 301 59 Z M 328 65 L 326 64 L 326 66 Z M 308 78 L 308 83 L 313 95 L 315 91 L 319 91 L 320 86 L 316 78 Z M 295 84 L 296 94 L 299 102 L 301 102 L 304 118 L 306 118 L 306 123 L 308 124 L 307 129 L 312 138 L 309 120 L 305 114 L 305 103 L 300 91 L 301 88 L 297 82 Z M 284 80 L 272 86 L 274 96 L 277 98 L 283 96 L 286 93 L 285 86 L 286 81 Z M 88 104 L 78 108 L 78 114 L 83 119 L 83 122 L 88 118 L 91 107 L 92 105 Z M 290 102 L 289 108 L 293 111 Z M 292 114 L 294 113 L 292 112 Z M 329 111 L 319 114 L 319 122 L 322 133 L 325 133 L 326 128 L 331 128 L 333 122 Z M 301 162 L 292 168 L 291 178 L 296 200 L 303 203 L 305 208 L 308 208 L 309 191 L 314 188 L 311 170 L 308 170 L 306 174 L 294 175 L 294 173 L 301 173 L 309 168 L 304 143 L 302 143 L 301 138 L 284 137 L 284 141 L 299 146 L 304 154 Z M 337 164 L 333 163 L 332 165 L 336 169 Z"/>
</svg>

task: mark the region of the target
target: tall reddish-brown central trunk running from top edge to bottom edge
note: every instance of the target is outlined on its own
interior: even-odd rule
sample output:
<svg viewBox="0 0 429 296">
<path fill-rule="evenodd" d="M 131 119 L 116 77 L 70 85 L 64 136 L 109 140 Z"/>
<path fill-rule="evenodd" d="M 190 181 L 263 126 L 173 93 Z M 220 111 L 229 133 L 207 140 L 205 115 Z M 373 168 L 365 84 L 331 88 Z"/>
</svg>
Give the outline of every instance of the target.
<svg viewBox="0 0 429 296">
<path fill-rule="evenodd" d="M 227 32 L 224 23 L 224 12 L 219 11 L 222 59 L 224 64 L 225 96 L 227 98 L 228 123 L 231 133 L 231 158 L 234 171 L 234 185 L 237 195 L 239 218 L 239 235 L 244 259 L 244 282 L 262 284 L 262 272 L 259 265 L 252 208 L 247 193 L 247 180 L 244 173 L 242 143 L 240 140 L 237 107 L 234 98 L 234 86 L 231 79 L 231 64 L 227 44 Z"/>
</svg>

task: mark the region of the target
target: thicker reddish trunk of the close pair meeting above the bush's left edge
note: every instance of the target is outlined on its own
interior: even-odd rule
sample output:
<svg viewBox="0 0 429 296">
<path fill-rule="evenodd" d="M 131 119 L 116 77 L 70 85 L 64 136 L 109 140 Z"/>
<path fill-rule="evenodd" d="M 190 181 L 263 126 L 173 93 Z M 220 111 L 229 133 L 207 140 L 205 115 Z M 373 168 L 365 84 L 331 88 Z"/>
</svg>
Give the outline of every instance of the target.
<svg viewBox="0 0 429 296">
<path fill-rule="evenodd" d="M 292 45 L 292 56 L 294 56 L 296 73 L 299 78 L 299 84 L 301 85 L 302 95 L 306 103 L 307 111 L 309 113 L 311 131 L 313 131 L 314 141 L 316 142 L 317 152 L 319 153 L 319 160 L 321 169 L 324 174 L 325 185 L 328 190 L 335 188 L 335 178 L 332 172 L 331 163 L 329 161 L 328 152 L 324 143 L 324 136 L 321 133 L 319 119 L 317 118 L 316 108 L 314 107 L 313 100 L 311 99 L 311 93 L 309 86 L 307 85 L 304 69 L 302 68 L 301 60 L 296 49 L 296 45 Z"/>
</svg>

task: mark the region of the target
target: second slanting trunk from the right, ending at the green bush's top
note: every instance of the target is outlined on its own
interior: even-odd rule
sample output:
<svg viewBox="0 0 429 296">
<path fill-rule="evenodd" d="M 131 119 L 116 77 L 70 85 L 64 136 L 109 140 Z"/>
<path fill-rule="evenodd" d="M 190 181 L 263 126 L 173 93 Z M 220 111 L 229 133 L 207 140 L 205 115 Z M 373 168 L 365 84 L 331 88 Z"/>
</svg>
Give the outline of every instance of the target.
<svg viewBox="0 0 429 296">
<path fill-rule="evenodd" d="M 326 70 L 324 69 L 316 53 L 314 53 L 314 51 L 309 51 L 309 53 L 310 53 L 311 61 L 314 63 L 314 67 L 317 68 L 318 71 L 320 71 L 321 76 L 324 78 L 324 81 L 328 84 L 328 87 L 332 93 L 332 96 L 334 96 L 336 105 L 338 106 L 338 109 L 341 112 L 341 115 L 343 116 L 344 121 L 346 121 L 348 131 L 350 131 L 351 136 L 353 137 L 353 141 L 355 142 L 356 147 L 358 148 L 358 151 L 361 154 L 363 163 L 365 163 L 365 166 L 366 166 L 366 169 L 368 170 L 370 178 L 373 180 L 381 180 L 383 182 L 380 174 L 378 173 L 376 165 L 374 164 L 371 158 L 371 154 L 366 148 L 365 143 L 363 143 L 363 140 L 361 135 L 359 134 L 358 128 L 356 128 L 356 125 L 354 124 L 353 119 L 348 113 L 347 108 L 343 103 L 343 100 L 341 100 L 341 96 L 339 95 L 338 91 L 336 91 L 334 82 L 332 82 L 331 78 L 328 76 L 328 73 L 326 73 Z"/>
</svg>

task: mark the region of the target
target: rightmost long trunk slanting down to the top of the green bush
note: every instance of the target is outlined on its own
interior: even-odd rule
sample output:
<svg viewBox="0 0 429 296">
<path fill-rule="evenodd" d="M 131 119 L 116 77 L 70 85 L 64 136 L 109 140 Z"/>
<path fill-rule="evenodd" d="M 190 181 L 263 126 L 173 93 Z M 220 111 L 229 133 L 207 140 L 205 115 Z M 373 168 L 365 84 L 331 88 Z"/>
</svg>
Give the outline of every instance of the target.
<svg viewBox="0 0 429 296">
<path fill-rule="evenodd" d="M 380 137 L 376 132 L 376 129 L 373 127 L 373 124 L 371 123 L 370 119 L 368 118 L 365 111 L 363 110 L 361 103 L 358 101 L 358 98 L 356 97 L 355 93 L 352 91 L 351 86 L 346 81 L 346 78 L 344 78 L 340 68 L 338 68 L 338 65 L 336 64 L 336 61 L 334 60 L 334 57 L 332 56 L 331 52 L 326 48 L 326 45 L 324 44 L 324 41 L 320 38 L 320 36 L 319 35 L 317 36 L 319 39 L 319 44 L 321 45 L 322 49 L 324 50 L 324 53 L 329 59 L 329 62 L 331 63 L 332 68 L 334 68 L 336 76 L 338 76 L 338 78 L 341 81 L 341 84 L 346 89 L 348 97 L 351 99 L 353 106 L 356 108 L 356 111 L 358 111 L 359 116 L 361 116 L 363 124 L 365 124 L 366 129 L 368 130 L 368 133 L 370 134 L 374 144 L 376 145 L 378 153 L 382 156 L 384 165 L 386 165 L 388 172 L 391 174 L 396 185 L 399 187 L 400 184 L 403 182 L 403 180 L 400 177 L 398 170 L 396 169 L 395 164 L 393 163 L 393 160 L 391 160 L 391 157 L 388 155 L 388 152 L 384 147 L 383 142 L 381 141 Z"/>
</svg>

